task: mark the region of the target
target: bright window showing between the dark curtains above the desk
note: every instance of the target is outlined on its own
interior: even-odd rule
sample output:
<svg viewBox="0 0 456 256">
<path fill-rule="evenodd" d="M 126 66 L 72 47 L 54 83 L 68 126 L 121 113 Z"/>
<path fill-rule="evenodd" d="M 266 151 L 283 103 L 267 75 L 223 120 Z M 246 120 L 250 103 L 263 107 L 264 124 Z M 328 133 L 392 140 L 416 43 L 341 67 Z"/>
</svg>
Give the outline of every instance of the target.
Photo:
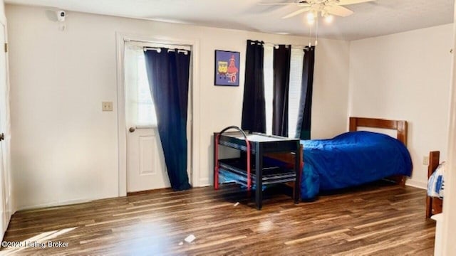
<svg viewBox="0 0 456 256">
<path fill-rule="evenodd" d="M 288 136 L 296 138 L 301 97 L 302 65 L 304 50 L 291 46 Z M 266 134 L 272 134 L 272 98 L 274 95 L 274 46 L 264 46 L 264 101 L 266 102 Z"/>
</svg>

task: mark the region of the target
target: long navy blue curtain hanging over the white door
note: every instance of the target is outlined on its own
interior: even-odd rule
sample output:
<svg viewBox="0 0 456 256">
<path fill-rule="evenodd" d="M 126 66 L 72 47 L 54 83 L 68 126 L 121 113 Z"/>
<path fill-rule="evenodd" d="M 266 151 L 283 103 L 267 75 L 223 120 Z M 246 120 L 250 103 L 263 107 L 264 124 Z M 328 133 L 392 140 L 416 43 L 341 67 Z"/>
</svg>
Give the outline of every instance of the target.
<svg viewBox="0 0 456 256">
<path fill-rule="evenodd" d="M 187 175 L 190 51 L 146 50 L 145 64 L 170 183 L 175 190 L 185 190 L 190 188 Z"/>
</svg>

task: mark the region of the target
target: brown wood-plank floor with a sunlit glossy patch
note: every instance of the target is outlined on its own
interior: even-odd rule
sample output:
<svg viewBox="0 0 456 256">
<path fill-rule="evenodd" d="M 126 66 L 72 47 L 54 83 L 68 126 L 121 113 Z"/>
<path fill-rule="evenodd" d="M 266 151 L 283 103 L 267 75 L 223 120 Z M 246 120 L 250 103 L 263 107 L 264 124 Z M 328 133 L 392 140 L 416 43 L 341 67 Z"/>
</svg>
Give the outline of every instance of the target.
<svg viewBox="0 0 456 256">
<path fill-rule="evenodd" d="M 299 205 L 270 192 L 261 211 L 234 185 L 21 211 L 4 241 L 68 247 L 7 247 L 0 254 L 433 255 L 435 222 L 425 219 L 424 190 L 376 183 Z M 195 241 L 179 245 L 190 234 Z"/>
</svg>

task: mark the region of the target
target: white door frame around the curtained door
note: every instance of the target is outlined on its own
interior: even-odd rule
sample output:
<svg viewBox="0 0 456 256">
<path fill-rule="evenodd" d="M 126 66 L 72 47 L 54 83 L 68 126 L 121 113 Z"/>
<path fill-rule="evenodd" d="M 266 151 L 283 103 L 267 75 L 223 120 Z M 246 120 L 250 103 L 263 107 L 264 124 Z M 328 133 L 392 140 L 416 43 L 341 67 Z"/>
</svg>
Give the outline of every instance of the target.
<svg viewBox="0 0 456 256">
<path fill-rule="evenodd" d="M 192 164 L 190 166 L 189 181 L 193 187 L 199 186 L 199 40 L 178 39 L 156 36 L 145 36 L 132 33 L 116 32 L 117 43 L 117 107 L 118 107 L 118 196 L 127 195 L 127 126 L 125 119 L 125 73 L 124 49 L 125 41 L 144 43 L 162 43 L 168 45 L 185 45 L 192 47 Z"/>
</svg>

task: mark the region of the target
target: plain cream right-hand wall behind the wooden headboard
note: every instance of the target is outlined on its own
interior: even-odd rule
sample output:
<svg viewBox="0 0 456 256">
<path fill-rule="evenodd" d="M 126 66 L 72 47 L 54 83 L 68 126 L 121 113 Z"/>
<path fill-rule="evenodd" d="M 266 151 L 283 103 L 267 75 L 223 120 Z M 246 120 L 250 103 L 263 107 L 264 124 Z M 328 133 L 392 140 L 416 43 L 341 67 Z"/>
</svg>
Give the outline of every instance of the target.
<svg viewBox="0 0 456 256">
<path fill-rule="evenodd" d="M 352 116 L 408 121 L 409 185 L 425 187 L 423 156 L 447 156 L 452 24 L 351 42 Z"/>
</svg>

